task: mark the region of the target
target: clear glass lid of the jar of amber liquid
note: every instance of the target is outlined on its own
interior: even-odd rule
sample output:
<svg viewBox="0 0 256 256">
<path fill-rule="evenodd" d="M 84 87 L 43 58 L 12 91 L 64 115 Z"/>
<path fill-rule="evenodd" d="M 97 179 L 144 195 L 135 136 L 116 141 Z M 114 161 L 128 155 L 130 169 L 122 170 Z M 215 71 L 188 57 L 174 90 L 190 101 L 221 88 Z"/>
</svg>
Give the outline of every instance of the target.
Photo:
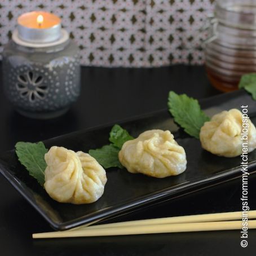
<svg viewBox="0 0 256 256">
<path fill-rule="evenodd" d="M 256 1 L 218 0 L 215 17 L 230 27 L 256 30 Z"/>
</svg>

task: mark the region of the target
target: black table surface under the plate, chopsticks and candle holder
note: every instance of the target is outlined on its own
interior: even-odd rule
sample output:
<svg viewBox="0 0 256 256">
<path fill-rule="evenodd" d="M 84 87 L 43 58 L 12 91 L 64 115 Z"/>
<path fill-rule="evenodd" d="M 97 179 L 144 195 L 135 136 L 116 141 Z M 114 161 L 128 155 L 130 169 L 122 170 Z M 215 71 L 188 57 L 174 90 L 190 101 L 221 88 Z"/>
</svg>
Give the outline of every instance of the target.
<svg viewBox="0 0 256 256">
<path fill-rule="evenodd" d="M 0 86 L 1 78 L 2 74 Z M 197 99 L 219 93 L 210 86 L 203 67 L 183 65 L 155 69 L 82 67 L 81 85 L 81 97 L 70 111 L 48 121 L 20 116 L 0 94 L 0 153 L 14 148 L 17 141 L 35 142 L 166 108 L 170 90 Z M 256 176 L 251 175 L 249 202 L 256 209 L 255 192 Z M 244 249 L 239 230 L 33 241 L 32 233 L 51 231 L 48 223 L 2 175 L 0 196 L 1 255 L 255 255 L 254 230 L 249 231 L 249 245 Z M 120 220 L 241 210 L 240 197 L 238 178 Z"/>
</svg>

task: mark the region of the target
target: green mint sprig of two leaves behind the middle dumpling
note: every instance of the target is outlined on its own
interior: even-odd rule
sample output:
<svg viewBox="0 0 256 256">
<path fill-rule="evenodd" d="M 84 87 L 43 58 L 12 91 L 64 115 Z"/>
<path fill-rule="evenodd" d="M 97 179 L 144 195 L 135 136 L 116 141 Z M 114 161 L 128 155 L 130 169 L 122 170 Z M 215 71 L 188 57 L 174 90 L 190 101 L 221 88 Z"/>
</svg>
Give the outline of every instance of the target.
<svg viewBox="0 0 256 256">
<path fill-rule="evenodd" d="M 104 145 L 102 148 L 91 149 L 89 154 L 94 157 L 105 169 L 110 167 L 123 168 L 121 165 L 118 153 L 122 148 L 123 143 L 127 140 L 134 139 L 120 125 L 114 125 L 109 133 L 109 141 L 112 144 Z"/>
</svg>

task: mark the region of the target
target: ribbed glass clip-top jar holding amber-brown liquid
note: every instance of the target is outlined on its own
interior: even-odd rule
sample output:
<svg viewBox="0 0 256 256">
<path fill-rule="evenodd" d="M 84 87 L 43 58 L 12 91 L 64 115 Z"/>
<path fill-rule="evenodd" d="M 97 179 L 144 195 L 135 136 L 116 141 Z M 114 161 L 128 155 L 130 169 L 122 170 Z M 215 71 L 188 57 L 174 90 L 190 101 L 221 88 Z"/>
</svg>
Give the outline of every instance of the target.
<svg viewBox="0 0 256 256">
<path fill-rule="evenodd" d="M 205 65 L 212 85 L 238 89 L 241 76 L 256 72 L 256 1 L 218 0 L 205 42 Z"/>
</svg>

